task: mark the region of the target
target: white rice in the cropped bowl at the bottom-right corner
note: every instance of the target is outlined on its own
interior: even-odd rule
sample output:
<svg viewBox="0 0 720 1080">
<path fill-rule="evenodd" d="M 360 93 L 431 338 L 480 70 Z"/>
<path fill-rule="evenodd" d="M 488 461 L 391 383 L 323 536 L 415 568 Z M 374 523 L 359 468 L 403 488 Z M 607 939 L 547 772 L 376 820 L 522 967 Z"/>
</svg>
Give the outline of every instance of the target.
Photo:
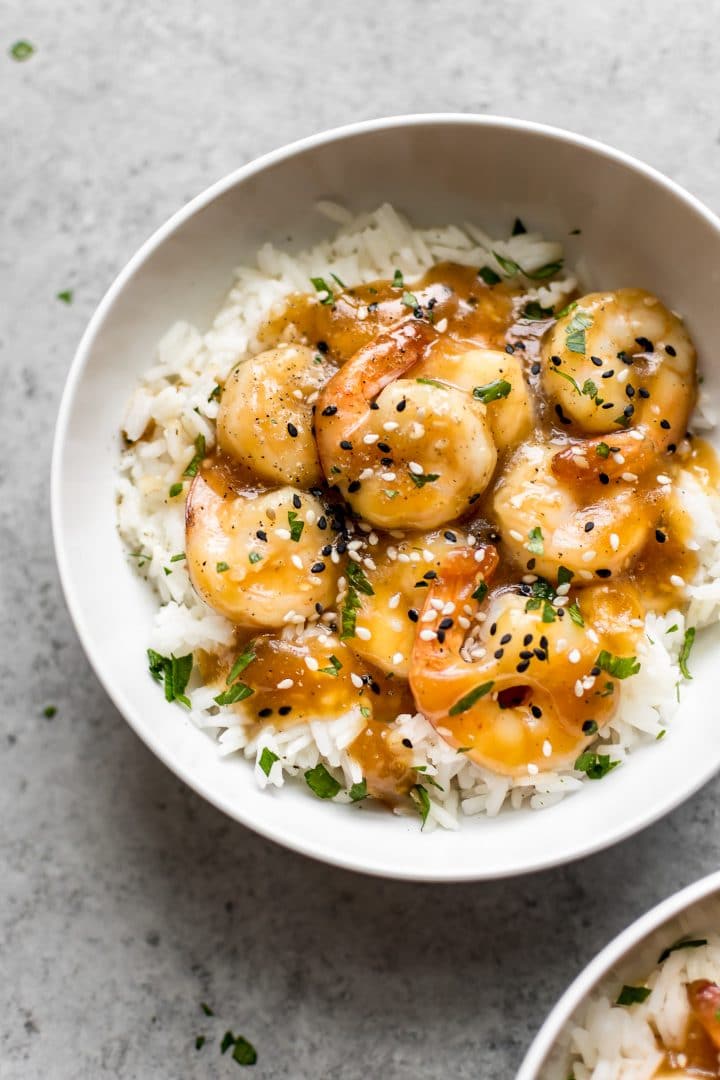
<svg viewBox="0 0 720 1080">
<path fill-rule="evenodd" d="M 582 1023 L 570 1032 L 572 1064 L 554 1070 L 558 1080 L 569 1075 L 575 1080 L 652 1080 L 664 1057 L 655 1032 L 665 1049 L 682 1050 L 690 1020 L 688 984 L 698 978 L 720 983 L 720 934 L 691 931 L 683 932 L 681 940 L 707 944 L 677 949 L 648 977 L 647 970 L 636 971 L 624 981 L 651 989 L 643 1002 L 615 1004 L 624 985 L 621 981 L 593 997 Z M 668 934 L 661 949 L 677 942 L 678 937 Z"/>
</svg>

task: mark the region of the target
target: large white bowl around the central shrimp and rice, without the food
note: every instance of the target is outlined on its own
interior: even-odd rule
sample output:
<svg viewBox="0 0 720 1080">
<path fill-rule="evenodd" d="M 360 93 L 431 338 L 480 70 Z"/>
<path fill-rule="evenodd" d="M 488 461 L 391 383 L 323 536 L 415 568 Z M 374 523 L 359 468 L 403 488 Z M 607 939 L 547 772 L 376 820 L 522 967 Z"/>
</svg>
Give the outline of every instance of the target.
<svg viewBox="0 0 720 1080">
<path fill-rule="evenodd" d="M 55 436 L 52 502 L 70 612 L 98 677 L 150 748 L 231 816 L 330 863 L 389 877 L 456 881 L 540 869 L 614 843 L 687 799 L 720 766 L 712 647 L 704 632 L 693 681 L 666 740 L 544 811 L 467 821 L 424 835 L 413 819 L 330 806 L 303 785 L 261 793 L 244 760 L 164 702 L 147 673 L 155 600 L 116 530 L 118 430 L 155 342 L 176 320 L 206 326 L 233 267 L 267 240 L 304 246 L 327 234 L 314 210 L 389 200 L 420 225 L 475 220 L 506 232 L 519 215 L 582 258 L 589 284 L 641 285 L 687 316 L 717 391 L 720 222 L 677 185 L 615 150 L 517 120 L 399 117 L 277 150 L 214 185 L 131 259 L 93 316 L 72 365 Z M 581 228 L 581 237 L 570 237 Z M 288 238 L 291 237 L 291 240 Z"/>
</svg>

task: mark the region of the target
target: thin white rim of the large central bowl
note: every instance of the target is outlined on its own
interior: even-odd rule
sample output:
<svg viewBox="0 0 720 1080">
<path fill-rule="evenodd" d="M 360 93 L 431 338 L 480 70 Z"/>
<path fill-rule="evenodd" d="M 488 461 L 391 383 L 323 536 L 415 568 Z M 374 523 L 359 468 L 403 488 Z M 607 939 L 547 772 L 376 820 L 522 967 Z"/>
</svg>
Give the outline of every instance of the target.
<svg viewBox="0 0 720 1080">
<path fill-rule="evenodd" d="M 91 316 L 91 320 L 80 339 L 74 357 L 66 377 L 53 437 L 50 503 L 53 545 L 55 550 L 58 576 L 65 602 L 80 639 L 80 644 L 82 645 L 91 667 L 116 708 L 118 708 L 135 733 L 165 766 L 179 777 L 180 780 L 188 784 L 188 786 L 191 787 L 198 795 L 202 796 L 212 806 L 216 807 L 216 809 L 222 811 L 234 821 L 240 822 L 245 827 L 252 828 L 260 836 L 274 840 L 290 850 L 298 851 L 301 854 L 314 858 L 329 865 L 369 874 L 376 877 L 386 877 L 395 880 L 407 881 L 450 883 L 456 881 L 493 880 L 515 877 L 521 874 L 536 873 L 542 869 L 549 869 L 558 865 L 573 862 L 576 859 L 594 854 L 619 843 L 643 828 L 647 828 L 653 822 L 657 821 L 666 813 L 669 813 L 677 806 L 681 805 L 694 795 L 698 788 L 707 783 L 718 770 L 715 766 L 711 766 L 710 768 L 706 767 L 705 770 L 698 772 L 692 784 L 689 785 L 682 794 L 678 794 L 670 799 L 669 802 L 664 802 L 662 806 L 657 804 L 650 805 L 643 814 L 635 818 L 629 824 L 619 825 L 614 828 L 614 831 L 602 837 L 588 838 L 588 841 L 573 853 L 565 852 L 558 855 L 543 858 L 542 852 L 539 852 L 534 859 L 528 861 L 524 866 L 513 869 L 511 873 L 503 868 L 490 868 L 486 870 L 483 868 L 479 870 L 476 868 L 437 869 L 429 866 L 419 866 L 417 869 L 391 869 L 384 865 L 376 865 L 366 858 L 354 856 L 352 853 L 348 853 L 331 843 L 313 841 L 301 842 L 296 839 L 288 838 L 284 835 L 282 828 L 269 825 L 261 818 L 256 819 L 254 815 L 246 813 L 244 808 L 230 804 L 228 799 L 213 792 L 202 780 L 192 775 L 189 767 L 177 761 L 172 761 L 168 758 L 161 740 L 155 737 L 151 726 L 134 713 L 134 710 L 125 700 L 124 691 L 119 685 L 117 685 L 113 674 L 109 669 L 106 670 L 106 662 L 104 661 L 100 650 L 96 646 L 85 623 L 82 605 L 76 594 L 70 569 L 69 553 L 65 542 L 62 502 L 64 450 L 67 443 L 69 419 L 74 397 L 85 373 L 95 339 L 97 338 L 106 318 L 111 311 L 116 300 L 122 294 L 127 282 L 133 278 L 138 268 L 157 251 L 157 248 L 160 247 L 160 245 L 180 226 L 182 226 L 199 211 L 212 203 L 215 199 L 225 194 L 228 190 L 245 179 L 263 172 L 269 166 L 290 159 L 315 147 L 324 146 L 330 143 L 339 143 L 344 139 L 353 138 L 357 135 L 393 130 L 397 127 L 422 127 L 437 124 L 458 127 L 472 126 L 521 132 L 529 135 L 539 135 L 553 141 L 563 143 L 589 150 L 601 158 L 609 159 L 625 168 L 639 173 L 652 184 L 664 188 L 670 195 L 684 203 L 697 216 L 703 218 L 706 224 L 710 226 L 710 228 L 720 234 L 720 218 L 707 206 L 705 206 L 699 199 L 653 166 L 644 164 L 642 161 L 634 158 L 623 150 L 614 149 L 604 143 L 588 138 L 585 135 L 580 135 L 575 132 L 567 131 L 561 127 L 538 123 L 535 121 L 472 112 L 419 112 L 357 121 L 296 139 L 274 150 L 270 150 L 269 152 L 261 154 L 259 158 L 255 158 L 246 164 L 241 165 L 239 168 L 233 170 L 219 180 L 210 184 L 198 195 L 180 206 L 150 234 L 150 237 L 139 246 L 135 254 L 117 274 Z"/>
</svg>

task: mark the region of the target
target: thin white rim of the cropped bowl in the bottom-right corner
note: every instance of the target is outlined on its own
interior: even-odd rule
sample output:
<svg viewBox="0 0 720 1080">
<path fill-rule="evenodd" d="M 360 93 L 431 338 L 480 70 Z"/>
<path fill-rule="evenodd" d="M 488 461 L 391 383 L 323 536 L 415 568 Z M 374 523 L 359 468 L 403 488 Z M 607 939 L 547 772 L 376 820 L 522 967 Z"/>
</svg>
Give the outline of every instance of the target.
<svg viewBox="0 0 720 1080">
<path fill-rule="evenodd" d="M 515 1080 L 539 1080 L 538 1070 L 544 1064 L 568 1020 L 611 968 L 639 947 L 663 923 L 716 892 L 720 892 L 720 870 L 715 870 L 707 877 L 699 878 L 684 889 L 674 892 L 613 937 L 575 976 L 553 1007 L 522 1058 Z"/>
</svg>

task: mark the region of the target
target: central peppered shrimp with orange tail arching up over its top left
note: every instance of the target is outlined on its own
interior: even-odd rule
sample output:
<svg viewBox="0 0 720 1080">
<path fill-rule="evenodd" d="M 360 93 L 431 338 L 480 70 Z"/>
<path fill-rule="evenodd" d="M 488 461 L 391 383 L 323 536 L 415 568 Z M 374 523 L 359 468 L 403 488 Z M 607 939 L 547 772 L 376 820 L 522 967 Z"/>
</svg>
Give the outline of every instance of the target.
<svg viewBox="0 0 720 1080">
<path fill-rule="evenodd" d="M 435 339 L 419 320 L 379 335 L 317 402 L 315 433 L 328 482 L 383 528 L 436 528 L 460 517 L 495 467 L 479 403 L 453 388 L 399 378 Z"/>
</svg>

